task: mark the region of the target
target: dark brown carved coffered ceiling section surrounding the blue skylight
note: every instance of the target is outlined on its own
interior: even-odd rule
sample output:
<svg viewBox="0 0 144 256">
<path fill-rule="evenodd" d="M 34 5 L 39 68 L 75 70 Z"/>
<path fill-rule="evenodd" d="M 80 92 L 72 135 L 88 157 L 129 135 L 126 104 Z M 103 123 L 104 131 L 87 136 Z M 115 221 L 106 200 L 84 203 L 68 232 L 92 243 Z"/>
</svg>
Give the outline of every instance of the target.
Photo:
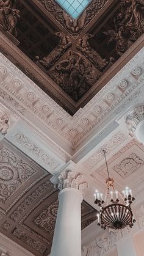
<svg viewBox="0 0 144 256">
<path fill-rule="evenodd" d="M 134 56 L 132 46 L 137 48 L 143 34 L 143 2 L 135 5 L 139 8 L 131 1 L 93 0 L 74 19 L 54 0 L 17 1 L 20 17 L 13 35 L 33 63 L 24 67 L 23 58 L 7 55 L 73 115 Z"/>
</svg>

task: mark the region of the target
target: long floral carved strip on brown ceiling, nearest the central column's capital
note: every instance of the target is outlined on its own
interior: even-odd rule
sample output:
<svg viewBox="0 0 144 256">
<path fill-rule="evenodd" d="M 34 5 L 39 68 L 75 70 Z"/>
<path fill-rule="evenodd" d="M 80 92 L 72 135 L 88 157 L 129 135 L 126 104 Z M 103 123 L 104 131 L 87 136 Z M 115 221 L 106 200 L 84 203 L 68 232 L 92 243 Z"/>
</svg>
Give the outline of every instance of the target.
<svg viewBox="0 0 144 256">
<path fill-rule="evenodd" d="M 18 218 L 20 218 L 21 214 L 33 203 L 35 200 L 38 199 L 38 197 L 41 197 L 48 189 L 52 188 L 51 181 L 46 181 L 41 186 L 39 186 L 37 189 L 35 189 L 32 194 L 27 197 L 17 208 L 16 210 L 11 214 L 10 218 L 13 221 L 17 221 Z M 53 190 L 52 190 L 53 192 Z"/>
</svg>

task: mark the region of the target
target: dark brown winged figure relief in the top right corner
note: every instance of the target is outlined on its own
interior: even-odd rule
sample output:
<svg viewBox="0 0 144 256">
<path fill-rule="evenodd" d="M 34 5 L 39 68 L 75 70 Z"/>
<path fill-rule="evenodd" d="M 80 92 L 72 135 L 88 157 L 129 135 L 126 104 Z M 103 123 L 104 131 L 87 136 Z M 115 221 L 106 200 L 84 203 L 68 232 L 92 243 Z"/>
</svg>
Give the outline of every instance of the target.
<svg viewBox="0 0 144 256">
<path fill-rule="evenodd" d="M 109 43 L 115 41 L 118 54 L 128 49 L 129 42 L 134 42 L 144 31 L 144 1 L 121 0 L 120 12 L 115 16 L 115 30 L 104 31 L 110 35 Z"/>
</svg>

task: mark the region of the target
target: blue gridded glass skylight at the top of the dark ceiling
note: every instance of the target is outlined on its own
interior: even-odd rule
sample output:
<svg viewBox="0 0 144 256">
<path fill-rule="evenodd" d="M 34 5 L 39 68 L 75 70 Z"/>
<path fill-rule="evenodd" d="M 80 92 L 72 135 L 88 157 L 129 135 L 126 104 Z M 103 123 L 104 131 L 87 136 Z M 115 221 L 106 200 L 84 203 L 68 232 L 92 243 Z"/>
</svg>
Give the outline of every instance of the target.
<svg viewBox="0 0 144 256">
<path fill-rule="evenodd" d="M 73 18 L 78 18 L 91 0 L 56 0 L 57 3 Z"/>
</svg>

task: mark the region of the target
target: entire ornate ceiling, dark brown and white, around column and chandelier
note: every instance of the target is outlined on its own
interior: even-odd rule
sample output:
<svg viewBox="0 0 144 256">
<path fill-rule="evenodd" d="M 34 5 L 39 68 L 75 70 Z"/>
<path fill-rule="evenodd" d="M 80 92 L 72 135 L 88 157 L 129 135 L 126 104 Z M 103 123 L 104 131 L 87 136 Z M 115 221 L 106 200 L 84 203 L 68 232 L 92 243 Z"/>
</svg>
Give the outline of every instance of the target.
<svg viewBox="0 0 144 256">
<path fill-rule="evenodd" d="M 52 175 L 84 175 L 89 232 L 93 192 L 104 192 L 106 179 L 101 147 L 118 188 L 131 186 L 136 197 L 144 189 L 144 148 L 125 123 L 143 104 L 144 3 L 93 0 L 74 19 L 58 1 L 14 2 L 15 30 L 0 24 L 0 125 L 9 120 L 0 134 L 0 225 L 34 255 L 48 255 L 58 207 Z"/>
</svg>

